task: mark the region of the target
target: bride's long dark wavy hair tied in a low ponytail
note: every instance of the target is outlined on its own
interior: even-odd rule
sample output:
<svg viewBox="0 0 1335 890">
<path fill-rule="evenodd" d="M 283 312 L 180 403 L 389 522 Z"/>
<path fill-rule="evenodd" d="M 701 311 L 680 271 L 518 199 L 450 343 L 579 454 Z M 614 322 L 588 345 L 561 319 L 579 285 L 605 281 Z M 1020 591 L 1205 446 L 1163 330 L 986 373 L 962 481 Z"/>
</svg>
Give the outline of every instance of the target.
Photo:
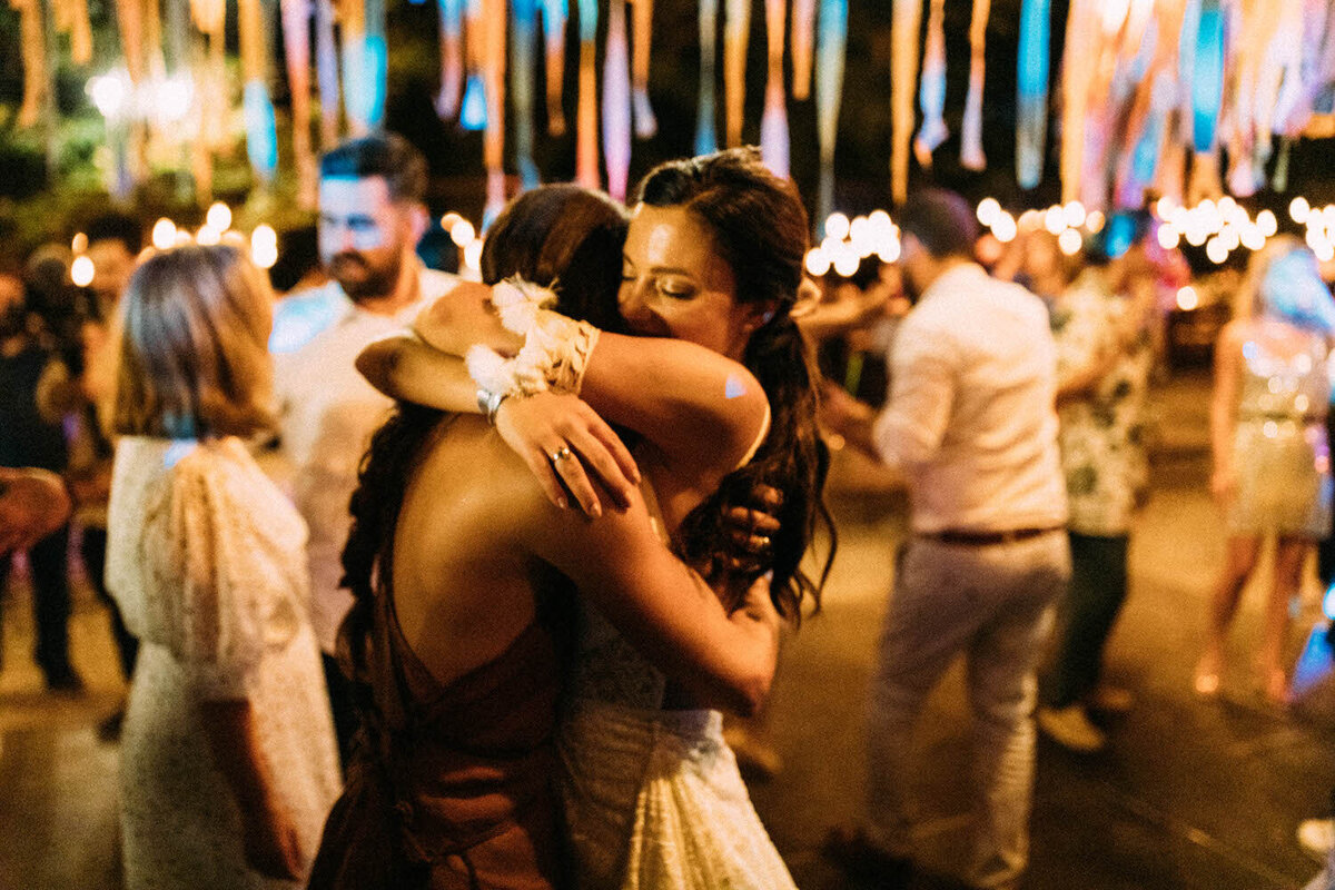
<svg viewBox="0 0 1335 890">
<path fill-rule="evenodd" d="M 752 334 L 742 364 L 769 396 L 769 435 L 750 463 L 725 476 L 718 490 L 686 515 L 678 546 L 710 583 L 728 580 L 732 591 L 773 570 L 774 607 L 800 620 L 804 599 L 812 600 L 812 611 L 820 610 L 837 547 L 824 500 L 829 450 L 816 422 L 820 372 L 792 318 L 806 258 L 806 209 L 796 187 L 772 173 L 756 148 L 661 164 L 639 183 L 638 201 L 689 211 L 712 234 L 714 252 L 732 270 L 737 303 L 764 307 L 765 322 Z M 772 535 L 773 562 L 736 576 L 729 568 L 736 547 L 728 544 L 726 512 L 752 506 L 758 486 L 772 486 L 784 495 L 781 527 Z M 817 526 L 826 530 L 829 551 L 812 578 L 801 562 Z"/>
</svg>

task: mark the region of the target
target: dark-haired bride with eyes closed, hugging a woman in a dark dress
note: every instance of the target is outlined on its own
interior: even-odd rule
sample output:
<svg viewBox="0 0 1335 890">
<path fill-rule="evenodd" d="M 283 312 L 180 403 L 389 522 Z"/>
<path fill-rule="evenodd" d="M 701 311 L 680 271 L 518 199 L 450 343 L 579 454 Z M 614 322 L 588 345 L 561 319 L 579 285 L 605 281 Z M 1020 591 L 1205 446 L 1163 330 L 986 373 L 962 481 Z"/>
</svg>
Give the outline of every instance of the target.
<svg viewBox="0 0 1335 890">
<path fill-rule="evenodd" d="M 826 466 L 813 372 L 790 316 L 802 284 L 805 211 L 792 185 L 769 173 L 753 151 L 665 164 L 649 173 L 639 193 L 618 295 L 623 324 L 745 366 L 765 388 L 772 416 L 752 428 L 750 448 L 734 464 L 717 467 L 718 443 L 700 420 L 712 411 L 726 414 L 730 383 L 718 382 L 718 398 L 700 380 L 674 378 L 655 362 L 653 340 L 634 343 L 637 355 L 627 358 L 633 372 L 621 380 L 590 375 L 581 395 L 638 434 L 634 455 L 659 535 L 725 602 L 737 602 L 738 590 L 773 572 L 772 598 L 794 618 L 804 598 L 818 603 L 820 584 L 798 563 L 825 515 L 820 491 Z M 418 320 L 417 332 L 455 355 L 467 342 L 491 339 L 462 334 L 458 310 L 442 300 Z M 372 382 L 396 395 L 431 399 L 430 387 L 406 376 L 414 375 Z M 498 428 L 521 455 L 550 455 L 559 442 L 554 436 L 581 423 L 562 411 L 545 396 L 509 399 Z M 549 490 L 559 491 L 561 474 L 573 492 L 582 491 L 578 464 L 529 464 Z M 782 492 L 778 527 L 746 540 L 760 558 L 738 563 L 729 518 L 738 510 L 749 516 L 746 504 L 766 486 Z M 696 706 L 583 599 L 575 646 L 558 749 L 577 886 L 792 887 L 724 742 L 721 714 Z"/>
</svg>

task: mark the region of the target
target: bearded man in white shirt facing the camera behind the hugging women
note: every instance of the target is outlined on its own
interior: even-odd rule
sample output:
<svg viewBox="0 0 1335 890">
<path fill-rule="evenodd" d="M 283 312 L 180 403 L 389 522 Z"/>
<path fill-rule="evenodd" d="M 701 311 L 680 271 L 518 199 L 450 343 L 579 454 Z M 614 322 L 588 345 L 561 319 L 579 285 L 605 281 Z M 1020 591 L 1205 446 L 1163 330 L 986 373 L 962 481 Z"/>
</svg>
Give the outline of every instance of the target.
<svg viewBox="0 0 1335 890">
<path fill-rule="evenodd" d="M 311 622 L 340 753 L 348 753 L 356 715 L 334 659 L 338 627 L 352 603 L 339 587 L 348 531 L 348 499 L 371 434 L 392 404 L 354 367 L 372 340 L 396 332 L 458 284 L 427 270 L 415 247 L 427 227 L 427 165 L 395 133 L 346 141 L 320 159 L 320 262 L 332 280 L 296 292 L 274 314 L 270 352 L 292 492 L 310 527 Z"/>
</svg>

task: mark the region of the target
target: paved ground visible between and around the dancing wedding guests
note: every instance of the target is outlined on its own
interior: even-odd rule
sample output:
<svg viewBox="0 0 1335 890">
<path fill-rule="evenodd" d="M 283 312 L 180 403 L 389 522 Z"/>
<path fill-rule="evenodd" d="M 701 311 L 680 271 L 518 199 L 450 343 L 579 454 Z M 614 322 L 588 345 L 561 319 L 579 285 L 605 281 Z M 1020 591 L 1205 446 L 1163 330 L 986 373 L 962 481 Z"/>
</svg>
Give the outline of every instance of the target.
<svg viewBox="0 0 1335 890">
<path fill-rule="evenodd" d="M 1189 693 L 1191 669 L 1222 530 L 1204 494 L 1206 387 L 1195 378 L 1156 394 L 1163 423 L 1153 496 L 1132 548 L 1132 594 L 1111 644 L 1111 674 L 1137 695 L 1108 723 L 1105 753 L 1077 757 L 1040 743 L 1031 890 L 1299 887 L 1314 871 L 1294 842 L 1335 783 L 1331 731 L 1264 707 L 1248 674 L 1260 590 L 1247 594 L 1232 638 L 1235 670 L 1218 703 Z M 865 759 L 862 697 L 896 543 L 902 496 L 873 468 L 838 462 L 833 480 L 840 556 L 824 615 L 789 640 L 768 715 L 784 770 L 756 783 L 756 806 L 804 890 L 849 883 L 818 854 L 826 829 L 854 818 Z M 1295 627 L 1310 627 L 1307 591 Z M 73 623 L 81 699 L 43 695 L 31 666 L 23 590 L 5 603 L 0 673 L 0 890 L 117 890 L 116 749 L 93 726 L 121 694 L 105 616 L 85 592 Z M 1302 643 L 1295 630 L 1292 646 Z M 932 698 L 918 745 L 928 821 L 924 862 L 941 873 L 967 826 L 968 717 L 960 671 Z M 924 877 L 917 886 L 952 886 Z"/>
</svg>

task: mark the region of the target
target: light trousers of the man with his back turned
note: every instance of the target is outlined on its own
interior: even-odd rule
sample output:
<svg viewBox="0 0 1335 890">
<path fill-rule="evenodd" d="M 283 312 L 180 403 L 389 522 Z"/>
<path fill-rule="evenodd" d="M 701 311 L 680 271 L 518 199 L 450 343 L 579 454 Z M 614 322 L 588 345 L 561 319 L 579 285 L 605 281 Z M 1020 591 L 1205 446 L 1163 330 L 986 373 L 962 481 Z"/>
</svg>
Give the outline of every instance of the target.
<svg viewBox="0 0 1335 890">
<path fill-rule="evenodd" d="M 1015 883 L 1028 863 L 1035 678 L 1071 576 L 1064 531 L 995 546 L 912 539 L 901 551 L 868 715 L 868 831 L 913 854 L 913 727 L 956 655 L 968 659 L 975 827 L 961 877 Z"/>
</svg>

